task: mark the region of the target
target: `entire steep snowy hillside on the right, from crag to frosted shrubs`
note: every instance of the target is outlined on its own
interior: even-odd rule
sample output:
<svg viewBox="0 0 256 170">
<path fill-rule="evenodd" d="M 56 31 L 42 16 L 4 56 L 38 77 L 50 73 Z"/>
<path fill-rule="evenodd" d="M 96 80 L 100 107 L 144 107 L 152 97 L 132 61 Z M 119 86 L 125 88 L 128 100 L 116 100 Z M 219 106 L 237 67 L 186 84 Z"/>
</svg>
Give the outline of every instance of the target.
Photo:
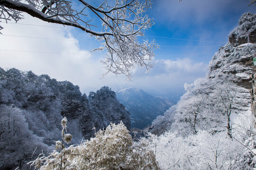
<svg viewBox="0 0 256 170">
<path fill-rule="evenodd" d="M 251 78 L 256 57 L 256 14 L 245 13 L 209 63 L 208 76 L 185 84 L 186 93 L 145 132 L 163 170 L 256 169 Z M 255 74 L 255 72 L 254 72 Z"/>
</svg>

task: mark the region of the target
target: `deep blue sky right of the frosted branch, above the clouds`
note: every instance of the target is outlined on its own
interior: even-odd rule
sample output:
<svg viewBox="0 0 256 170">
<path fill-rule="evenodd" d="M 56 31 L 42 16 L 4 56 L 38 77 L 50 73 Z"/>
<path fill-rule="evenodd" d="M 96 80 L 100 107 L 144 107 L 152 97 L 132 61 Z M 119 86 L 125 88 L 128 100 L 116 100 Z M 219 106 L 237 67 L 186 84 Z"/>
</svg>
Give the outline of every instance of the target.
<svg viewBox="0 0 256 170">
<path fill-rule="evenodd" d="M 246 11 L 255 12 L 256 7 L 247 7 L 247 3 L 247 0 L 183 0 L 181 3 L 176 0 L 155 1 L 152 10 L 148 11 L 155 18 L 155 26 L 146 35 L 202 41 L 155 38 L 163 46 L 197 46 L 162 47 L 156 51 L 156 56 L 170 54 L 167 58 L 175 59 L 181 58 L 179 55 L 186 57 L 209 52 L 190 56 L 196 61 L 207 63 L 214 51 L 218 51 L 219 46 L 228 41 L 227 35 L 238 25 L 240 16 Z"/>
</svg>

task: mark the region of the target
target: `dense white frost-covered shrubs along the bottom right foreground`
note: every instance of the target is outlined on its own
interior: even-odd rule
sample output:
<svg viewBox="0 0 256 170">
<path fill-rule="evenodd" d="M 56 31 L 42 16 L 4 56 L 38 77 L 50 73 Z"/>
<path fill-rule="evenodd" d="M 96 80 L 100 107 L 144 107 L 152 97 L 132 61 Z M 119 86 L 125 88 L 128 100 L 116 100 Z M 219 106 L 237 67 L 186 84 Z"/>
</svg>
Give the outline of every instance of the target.
<svg viewBox="0 0 256 170">
<path fill-rule="evenodd" d="M 163 170 L 233 170 L 244 152 L 243 146 L 225 131 L 214 135 L 198 131 L 186 137 L 168 131 L 151 135 L 148 140 Z"/>
</svg>

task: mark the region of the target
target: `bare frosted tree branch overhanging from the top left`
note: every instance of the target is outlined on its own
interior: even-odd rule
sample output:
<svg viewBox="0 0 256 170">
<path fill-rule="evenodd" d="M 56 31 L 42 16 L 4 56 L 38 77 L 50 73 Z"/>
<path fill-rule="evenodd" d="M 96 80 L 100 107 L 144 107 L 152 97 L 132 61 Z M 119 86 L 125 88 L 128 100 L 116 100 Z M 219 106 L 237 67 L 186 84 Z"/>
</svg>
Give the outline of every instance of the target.
<svg viewBox="0 0 256 170">
<path fill-rule="evenodd" d="M 146 67 L 146 71 L 152 67 L 153 51 L 158 45 L 155 41 L 139 42 L 137 39 L 154 24 L 144 15 L 147 8 L 151 8 L 151 0 L 115 0 L 114 5 L 104 0 L 98 7 L 85 0 L 76 2 L 80 3 L 76 6 L 82 8 L 73 8 L 71 0 L 0 0 L 0 20 L 17 22 L 23 18 L 22 12 L 26 12 L 43 21 L 77 27 L 89 33 L 102 42 L 101 47 L 92 51 L 108 51 L 106 59 L 101 61 L 107 69 L 105 74 L 126 74 L 130 79 L 135 66 Z M 101 21 L 101 29 L 92 24 L 88 13 Z"/>
</svg>

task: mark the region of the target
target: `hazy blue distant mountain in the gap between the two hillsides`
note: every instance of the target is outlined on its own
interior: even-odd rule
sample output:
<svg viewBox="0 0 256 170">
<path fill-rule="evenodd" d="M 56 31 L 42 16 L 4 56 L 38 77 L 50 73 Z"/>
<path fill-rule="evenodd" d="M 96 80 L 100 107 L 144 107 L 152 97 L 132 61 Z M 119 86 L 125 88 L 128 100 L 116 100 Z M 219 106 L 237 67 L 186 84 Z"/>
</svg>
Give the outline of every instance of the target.
<svg viewBox="0 0 256 170">
<path fill-rule="evenodd" d="M 143 129 L 159 115 L 164 115 L 174 105 L 167 99 L 152 96 L 141 89 L 126 88 L 116 92 L 117 99 L 125 105 L 131 116 L 131 128 Z"/>
</svg>

